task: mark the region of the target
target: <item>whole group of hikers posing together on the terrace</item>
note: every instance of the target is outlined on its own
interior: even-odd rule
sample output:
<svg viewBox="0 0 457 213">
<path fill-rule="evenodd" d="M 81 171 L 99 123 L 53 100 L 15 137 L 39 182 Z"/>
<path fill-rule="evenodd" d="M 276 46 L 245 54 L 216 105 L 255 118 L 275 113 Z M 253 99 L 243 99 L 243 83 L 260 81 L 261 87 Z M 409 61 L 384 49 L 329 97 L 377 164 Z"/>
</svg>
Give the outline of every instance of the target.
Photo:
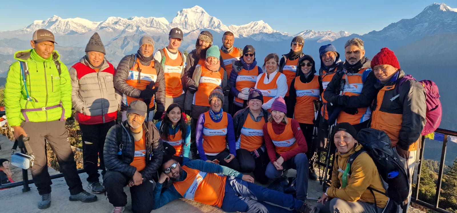
<svg viewBox="0 0 457 213">
<path fill-rule="evenodd" d="M 382 211 L 388 197 L 367 189 L 386 192 L 366 153 L 352 164 L 351 177 L 342 173 L 348 156 L 361 149 L 357 133 L 363 128 L 387 133 L 411 182 L 425 92 L 412 79 L 398 85 L 405 73 L 388 48 L 370 60 L 363 41 L 352 38 L 343 62 L 336 47 L 324 45 L 318 73 L 313 57 L 303 53 L 301 36 L 292 39 L 289 53 L 281 59 L 268 54 L 262 66 L 255 47 L 234 47 L 232 32 L 223 34 L 219 48 L 202 31 L 188 55 L 179 50 L 183 39 L 181 29 L 173 28 L 168 46 L 157 50 L 143 36 L 138 51 L 117 68 L 106 60 L 97 33 L 69 70 L 48 30 L 33 33 L 32 49 L 16 52 L 5 85 L 6 116 L 16 138 L 30 138 L 38 208 L 51 204 L 46 141 L 64 173 L 69 200 L 94 202 L 92 193 L 105 192 L 113 213 L 125 209 L 126 186 L 133 212 L 150 212 L 176 198 L 228 212 Z M 82 187 L 65 129 L 72 108 L 91 193 Z M 122 123 L 116 124 L 119 110 Z M 335 131 L 329 134 L 331 125 Z M 308 178 L 317 179 L 316 135 L 333 141 L 340 157 L 319 207 L 312 207 L 305 201 Z M 296 196 L 254 184 L 289 169 L 297 170 Z M 251 172 L 254 178 L 246 174 Z"/>
</svg>

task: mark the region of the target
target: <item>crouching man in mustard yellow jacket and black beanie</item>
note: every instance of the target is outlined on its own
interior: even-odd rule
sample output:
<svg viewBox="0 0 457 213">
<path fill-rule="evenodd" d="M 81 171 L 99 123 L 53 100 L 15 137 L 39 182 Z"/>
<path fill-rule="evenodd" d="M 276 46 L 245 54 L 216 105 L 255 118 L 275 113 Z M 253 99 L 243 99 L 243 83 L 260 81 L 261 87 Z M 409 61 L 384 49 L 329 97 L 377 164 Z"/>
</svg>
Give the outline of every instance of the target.
<svg viewBox="0 0 457 213">
<path fill-rule="evenodd" d="M 373 191 L 373 197 L 368 189 L 370 187 L 386 193 L 377 167 L 368 153 L 359 154 L 352 162 L 352 168 L 347 168 L 351 154 L 362 149 L 362 145 L 356 140 L 356 129 L 349 123 L 340 123 L 336 125 L 334 132 L 333 140 L 338 151 L 333 163 L 332 185 L 318 201 L 320 213 L 383 212 L 388 197 L 376 191 Z M 344 176 L 347 178 L 343 178 Z"/>
</svg>

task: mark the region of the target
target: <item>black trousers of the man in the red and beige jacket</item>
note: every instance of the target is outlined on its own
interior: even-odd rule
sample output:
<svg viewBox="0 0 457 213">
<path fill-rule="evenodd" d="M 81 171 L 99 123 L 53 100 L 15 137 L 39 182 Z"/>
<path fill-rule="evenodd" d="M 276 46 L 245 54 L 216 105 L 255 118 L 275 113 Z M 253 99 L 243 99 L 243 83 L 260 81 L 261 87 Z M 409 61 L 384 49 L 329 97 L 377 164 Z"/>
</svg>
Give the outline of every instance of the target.
<svg viewBox="0 0 457 213">
<path fill-rule="evenodd" d="M 87 173 L 87 182 L 99 181 L 98 159 L 100 159 L 101 175 L 105 175 L 105 161 L 103 161 L 103 145 L 105 145 L 106 133 L 115 121 L 105 124 L 86 125 L 80 124 L 83 139 L 84 170 Z"/>
</svg>

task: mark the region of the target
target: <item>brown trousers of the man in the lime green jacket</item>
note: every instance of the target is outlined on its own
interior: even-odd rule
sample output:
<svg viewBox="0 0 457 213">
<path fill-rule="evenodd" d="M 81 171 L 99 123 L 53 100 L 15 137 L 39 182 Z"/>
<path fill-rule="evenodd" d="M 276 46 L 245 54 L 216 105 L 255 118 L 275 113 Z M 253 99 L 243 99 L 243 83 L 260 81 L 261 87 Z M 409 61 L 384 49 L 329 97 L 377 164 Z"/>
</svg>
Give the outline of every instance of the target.
<svg viewBox="0 0 457 213">
<path fill-rule="evenodd" d="M 76 162 L 68 141 L 65 121 L 22 122 L 21 127 L 30 138 L 29 144 L 35 156 L 31 171 L 38 193 L 40 195 L 51 193 L 52 182 L 48 172 L 46 141 L 57 157 L 60 172 L 64 174 L 70 194 L 82 192 L 83 187 L 76 171 Z"/>
</svg>

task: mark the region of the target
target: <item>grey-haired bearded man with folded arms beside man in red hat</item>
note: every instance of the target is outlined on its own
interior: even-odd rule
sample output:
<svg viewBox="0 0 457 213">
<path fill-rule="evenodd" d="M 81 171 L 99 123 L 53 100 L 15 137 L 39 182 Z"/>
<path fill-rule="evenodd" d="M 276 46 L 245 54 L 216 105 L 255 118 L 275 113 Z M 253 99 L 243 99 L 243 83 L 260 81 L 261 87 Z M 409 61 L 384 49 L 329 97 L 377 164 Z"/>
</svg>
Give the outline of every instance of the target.
<svg viewBox="0 0 457 213">
<path fill-rule="evenodd" d="M 363 41 L 352 38 L 345 44 L 343 71 L 335 73 L 324 92 L 327 100 L 327 113 L 337 122 L 347 122 L 357 132 L 367 128 L 371 118 L 370 104 L 376 96 L 376 77 L 370 68 L 370 59 L 365 57 Z"/>
</svg>

